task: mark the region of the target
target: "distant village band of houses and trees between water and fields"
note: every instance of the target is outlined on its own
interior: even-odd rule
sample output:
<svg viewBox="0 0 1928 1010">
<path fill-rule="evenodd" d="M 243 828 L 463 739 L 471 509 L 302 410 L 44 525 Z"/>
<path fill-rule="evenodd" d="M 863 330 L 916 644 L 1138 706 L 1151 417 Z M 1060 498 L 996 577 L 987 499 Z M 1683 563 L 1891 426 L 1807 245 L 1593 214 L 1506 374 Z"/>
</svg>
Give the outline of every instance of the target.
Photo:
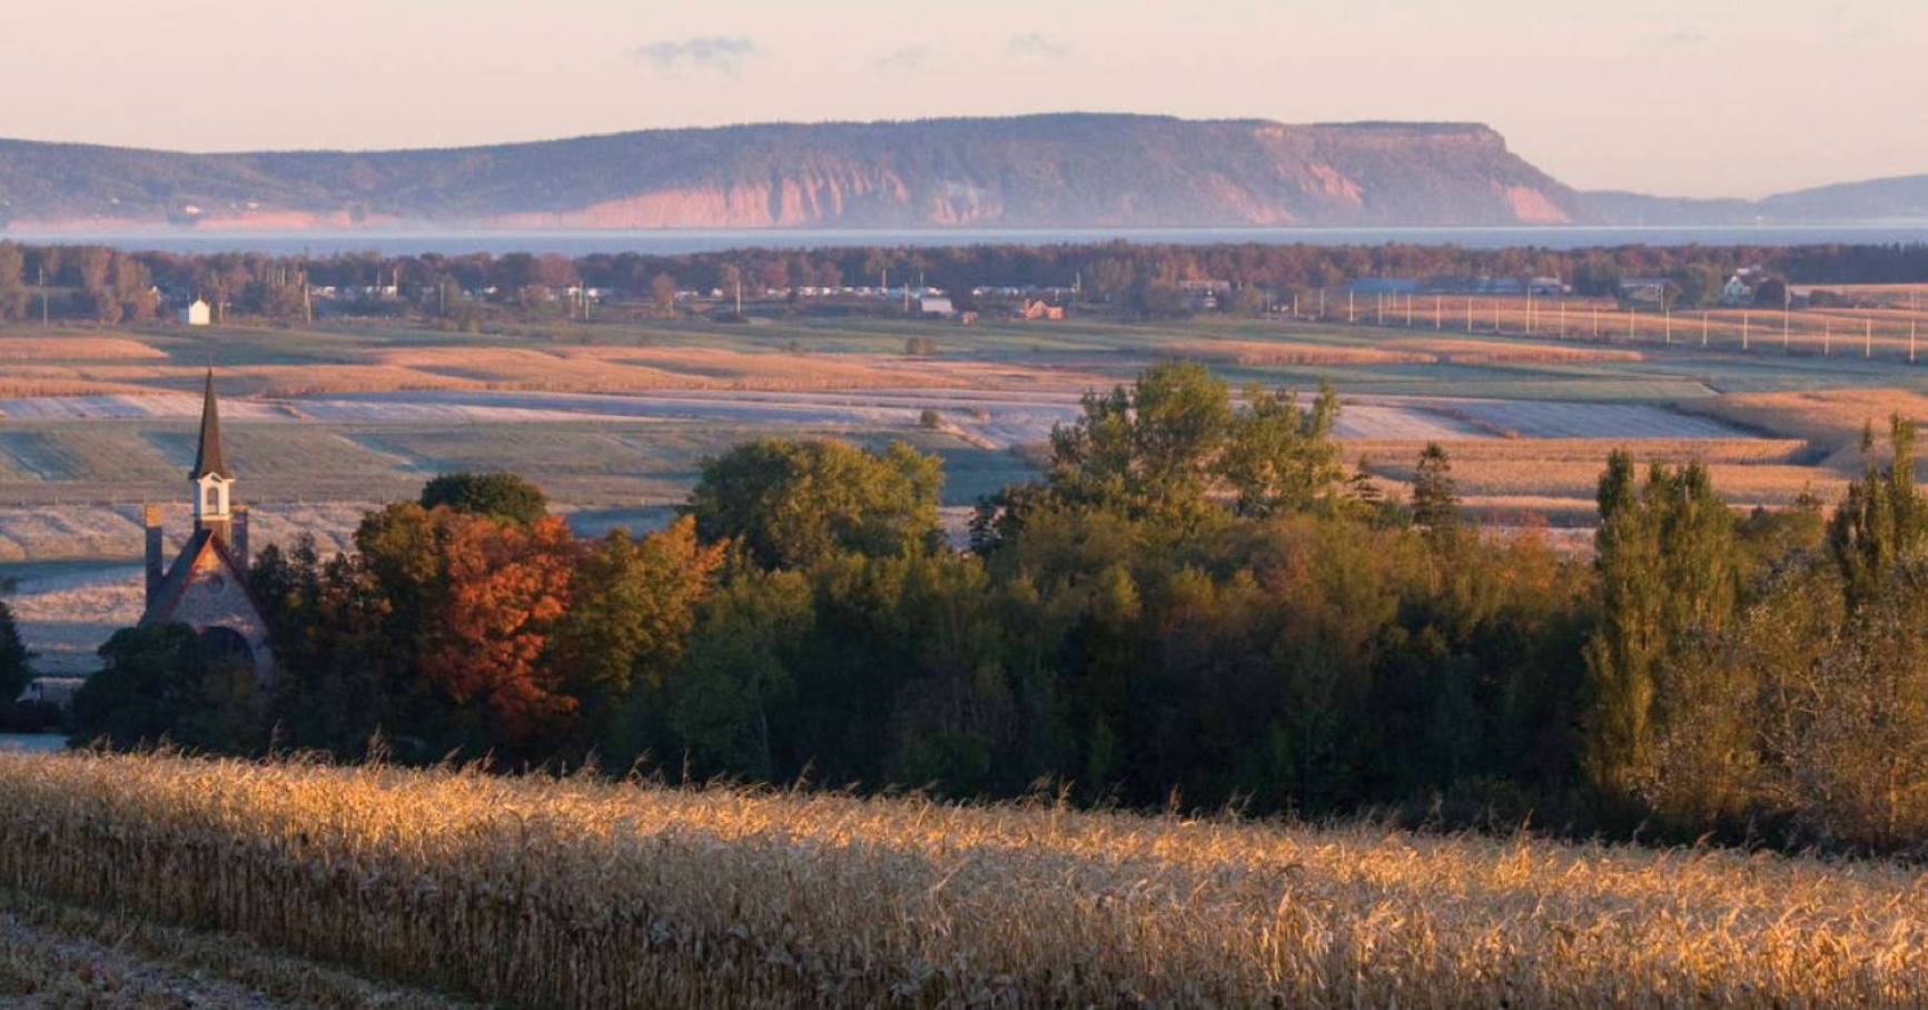
<svg viewBox="0 0 1928 1010">
<path fill-rule="evenodd" d="M 1053 322 L 1203 312 L 1340 318 L 1330 299 L 1594 299 L 1621 306 L 1872 306 L 1928 252 L 1876 247 L 1479 251 L 1454 247 L 738 249 L 648 256 L 123 252 L 0 241 L 0 320 L 222 326 L 910 316 Z M 908 281 L 908 283 L 906 283 Z M 1909 295 L 1913 297 L 1913 295 Z M 1884 301 L 1886 299 L 1886 301 Z M 1321 308 L 1323 306 L 1323 308 Z"/>
</svg>

